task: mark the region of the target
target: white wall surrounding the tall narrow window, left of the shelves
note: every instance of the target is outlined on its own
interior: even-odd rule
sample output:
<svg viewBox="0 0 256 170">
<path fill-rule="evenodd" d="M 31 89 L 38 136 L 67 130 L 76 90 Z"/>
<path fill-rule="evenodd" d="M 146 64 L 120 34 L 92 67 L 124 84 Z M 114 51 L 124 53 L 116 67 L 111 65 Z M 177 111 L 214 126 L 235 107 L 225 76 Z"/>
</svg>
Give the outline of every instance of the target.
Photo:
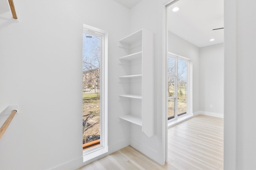
<svg viewBox="0 0 256 170">
<path fill-rule="evenodd" d="M 110 152 L 127 146 L 128 124 L 118 123 L 116 70 L 130 10 L 114 0 L 14 4 L 20 22 L 0 12 L 0 110 L 18 104 L 20 113 L 0 140 L 0 169 L 82 166 L 83 23 L 108 31 L 108 145 Z"/>
</svg>

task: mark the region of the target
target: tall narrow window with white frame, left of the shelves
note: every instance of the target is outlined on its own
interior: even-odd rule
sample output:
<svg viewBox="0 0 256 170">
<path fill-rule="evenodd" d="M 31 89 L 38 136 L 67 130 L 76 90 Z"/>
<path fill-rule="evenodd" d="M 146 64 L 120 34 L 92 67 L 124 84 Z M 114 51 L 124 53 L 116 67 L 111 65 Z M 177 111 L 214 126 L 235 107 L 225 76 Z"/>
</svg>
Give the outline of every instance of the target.
<svg viewBox="0 0 256 170">
<path fill-rule="evenodd" d="M 106 152 L 107 35 L 105 31 L 85 24 L 82 71 L 84 154 L 104 148 Z"/>
</svg>

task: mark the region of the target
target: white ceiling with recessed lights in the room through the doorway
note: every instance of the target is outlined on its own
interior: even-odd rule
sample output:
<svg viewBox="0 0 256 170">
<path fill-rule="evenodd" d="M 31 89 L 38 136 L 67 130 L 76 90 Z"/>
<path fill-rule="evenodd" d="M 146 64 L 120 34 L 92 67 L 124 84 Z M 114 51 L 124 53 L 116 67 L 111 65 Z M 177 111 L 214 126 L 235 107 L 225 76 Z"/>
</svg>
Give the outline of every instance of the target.
<svg viewBox="0 0 256 170">
<path fill-rule="evenodd" d="M 168 30 L 197 47 L 224 42 L 224 0 L 179 0 L 168 7 Z M 174 7 L 180 8 L 172 12 Z M 215 39 L 210 41 L 210 39 Z"/>
</svg>

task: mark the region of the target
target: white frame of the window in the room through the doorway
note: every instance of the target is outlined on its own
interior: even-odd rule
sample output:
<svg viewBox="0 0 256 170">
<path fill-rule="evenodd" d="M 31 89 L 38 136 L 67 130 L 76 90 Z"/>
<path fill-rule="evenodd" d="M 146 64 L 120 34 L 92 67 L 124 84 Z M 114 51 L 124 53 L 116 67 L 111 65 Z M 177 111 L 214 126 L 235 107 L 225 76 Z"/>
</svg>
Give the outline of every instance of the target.
<svg viewBox="0 0 256 170">
<path fill-rule="evenodd" d="M 190 102 L 190 87 L 189 87 L 189 80 L 190 80 L 190 74 L 189 74 L 189 65 L 190 65 L 190 59 L 188 59 L 188 58 L 186 58 L 186 57 L 183 57 L 183 56 L 180 56 L 180 55 L 176 55 L 176 54 L 174 54 L 174 53 L 170 53 L 170 52 L 168 52 L 168 54 L 167 54 L 167 59 L 166 59 L 166 114 L 168 115 L 168 93 L 167 93 L 167 91 L 168 91 L 168 73 L 167 73 L 167 70 L 168 70 L 168 57 L 172 57 L 172 58 L 174 58 L 175 59 L 175 63 L 174 63 L 174 65 L 175 65 L 175 72 L 174 72 L 174 74 L 171 74 L 171 76 L 173 76 L 174 77 L 174 107 L 175 107 L 175 112 L 174 112 L 174 118 L 173 119 L 169 119 L 168 120 L 168 116 L 167 116 L 167 121 L 168 122 L 172 122 L 172 121 L 177 121 L 178 119 L 180 119 L 181 117 L 184 117 L 184 116 L 188 116 L 188 115 L 190 115 L 190 104 L 189 104 L 189 102 Z M 178 90 L 177 90 L 177 85 L 178 85 L 178 81 L 177 81 L 177 74 L 178 74 L 178 59 L 179 60 L 182 60 L 182 61 L 186 61 L 187 62 L 187 111 L 186 111 L 186 113 L 185 114 L 182 114 L 182 115 L 180 115 L 180 116 L 178 116 L 178 113 L 177 113 L 177 107 L 178 107 Z"/>
</svg>

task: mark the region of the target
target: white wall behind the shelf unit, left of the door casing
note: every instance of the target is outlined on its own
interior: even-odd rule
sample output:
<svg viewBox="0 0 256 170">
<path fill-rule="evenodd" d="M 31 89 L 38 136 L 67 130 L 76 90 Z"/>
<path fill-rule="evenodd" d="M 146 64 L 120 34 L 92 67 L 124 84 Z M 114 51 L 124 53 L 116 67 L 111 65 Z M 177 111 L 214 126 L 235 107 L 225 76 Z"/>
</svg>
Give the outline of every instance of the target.
<svg viewBox="0 0 256 170">
<path fill-rule="evenodd" d="M 131 9 L 131 33 L 142 28 L 147 29 L 155 34 L 155 42 L 157 42 L 157 37 L 159 36 L 157 33 L 157 4 L 158 2 L 156 0 L 142 0 L 139 4 Z M 157 52 L 157 43 L 155 47 L 155 51 Z M 155 57 L 155 59 L 157 61 L 157 57 Z M 154 69 L 156 72 L 156 67 Z M 157 84 L 155 84 L 155 88 L 157 89 Z M 156 92 L 155 94 L 152 92 L 152 97 L 155 98 L 155 103 L 157 103 L 158 99 Z M 130 145 L 140 150 L 140 152 L 146 154 L 159 164 L 163 164 L 161 140 L 163 137 L 162 112 L 157 111 L 156 106 L 155 115 L 155 135 L 148 138 L 144 133 L 141 132 L 141 127 L 131 125 Z"/>
</svg>

